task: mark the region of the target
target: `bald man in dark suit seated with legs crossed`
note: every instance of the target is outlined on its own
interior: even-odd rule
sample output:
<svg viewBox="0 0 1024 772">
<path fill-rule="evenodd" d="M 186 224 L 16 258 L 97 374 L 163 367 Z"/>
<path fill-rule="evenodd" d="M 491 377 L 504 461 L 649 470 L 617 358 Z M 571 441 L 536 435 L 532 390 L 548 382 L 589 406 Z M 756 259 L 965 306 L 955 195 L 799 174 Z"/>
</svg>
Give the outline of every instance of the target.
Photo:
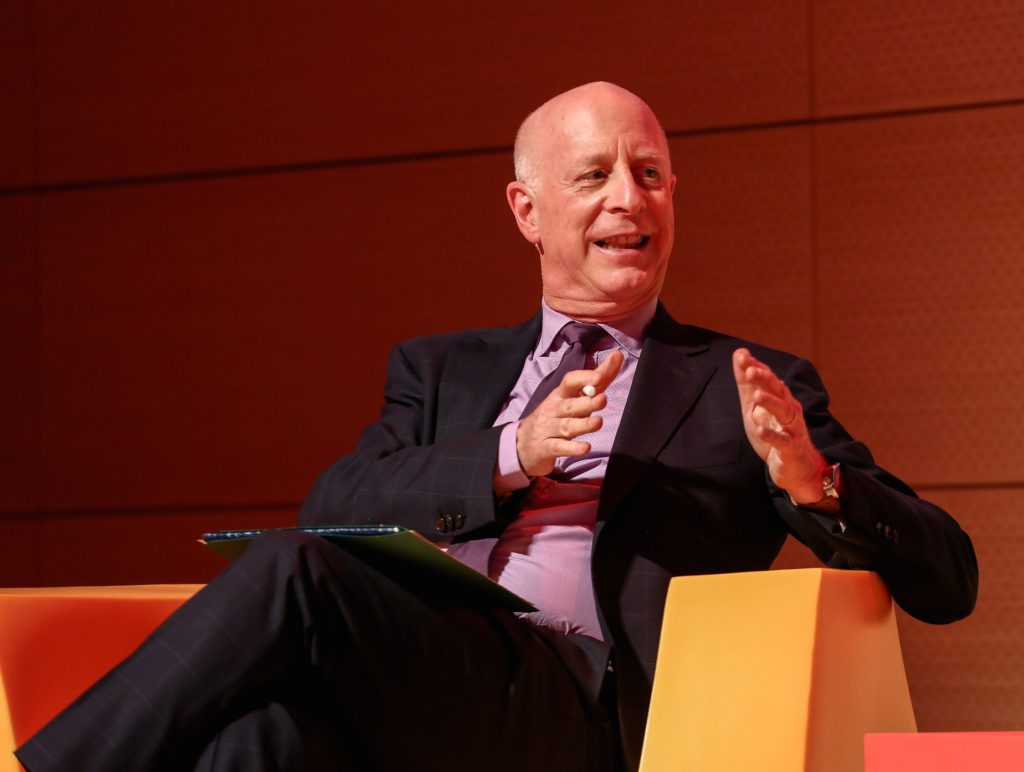
<svg viewBox="0 0 1024 772">
<path fill-rule="evenodd" d="M 396 347 L 381 419 L 300 520 L 415 528 L 540 611 L 273 537 L 22 748 L 31 770 L 635 768 L 669 578 L 767 568 L 786 533 L 920 618 L 970 612 L 970 540 L 874 466 L 809 362 L 657 303 L 675 176 L 642 100 L 555 97 L 516 177 L 542 313 Z"/>
</svg>

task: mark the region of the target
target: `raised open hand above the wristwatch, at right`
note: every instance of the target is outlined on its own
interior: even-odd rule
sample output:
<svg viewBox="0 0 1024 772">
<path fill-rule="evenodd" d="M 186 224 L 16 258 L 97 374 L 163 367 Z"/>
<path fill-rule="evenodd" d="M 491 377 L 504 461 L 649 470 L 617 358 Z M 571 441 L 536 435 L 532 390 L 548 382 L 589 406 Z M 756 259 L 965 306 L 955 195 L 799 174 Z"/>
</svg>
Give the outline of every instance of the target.
<svg viewBox="0 0 1024 772">
<path fill-rule="evenodd" d="M 811 442 L 804 409 L 788 387 L 745 348 L 732 353 L 746 439 L 772 481 L 798 504 L 821 499 L 827 463 Z"/>
</svg>

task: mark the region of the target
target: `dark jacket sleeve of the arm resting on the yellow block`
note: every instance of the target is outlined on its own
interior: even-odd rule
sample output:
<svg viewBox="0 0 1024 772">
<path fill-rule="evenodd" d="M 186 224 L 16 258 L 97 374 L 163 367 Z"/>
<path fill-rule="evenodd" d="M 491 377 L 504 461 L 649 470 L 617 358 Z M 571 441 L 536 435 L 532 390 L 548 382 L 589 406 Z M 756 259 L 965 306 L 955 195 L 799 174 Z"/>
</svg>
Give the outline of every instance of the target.
<svg viewBox="0 0 1024 772">
<path fill-rule="evenodd" d="M 923 621 L 954 621 L 971 613 L 978 562 L 959 524 L 874 464 L 828 412 L 828 395 L 810 362 L 796 359 L 780 376 L 804 405 L 815 446 L 841 470 L 838 518 L 795 506 L 769 481 L 791 532 L 830 567 L 877 571 L 896 602 Z"/>
</svg>

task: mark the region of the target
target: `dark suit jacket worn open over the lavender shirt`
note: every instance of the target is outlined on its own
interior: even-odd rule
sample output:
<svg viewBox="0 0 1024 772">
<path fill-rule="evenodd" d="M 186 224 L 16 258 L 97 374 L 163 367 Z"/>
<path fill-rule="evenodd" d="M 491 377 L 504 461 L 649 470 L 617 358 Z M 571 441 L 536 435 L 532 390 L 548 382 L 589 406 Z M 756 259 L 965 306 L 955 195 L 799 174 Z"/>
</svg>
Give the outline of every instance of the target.
<svg viewBox="0 0 1024 772">
<path fill-rule="evenodd" d="M 396 522 L 438 539 L 494 538 L 517 502 L 499 504 L 492 490 L 500 427 L 490 425 L 540 328 L 538 315 L 516 328 L 397 346 L 380 420 L 319 477 L 300 521 Z M 731 367 L 739 346 L 782 378 L 804 405 L 815 445 L 841 462 L 845 530 L 771 484 L 743 432 Z M 592 560 L 634 768 L 669 580 L 766 569 L 787 533 L 828 566 L 878 571 L 896 601 L 926 621 L 951 621 L 974 606 L 978 569 L 967 534 L 874 465 L 828 413 L 810 362 L 679 325 L 658 306 L 611 451 Z"/>
</svg>

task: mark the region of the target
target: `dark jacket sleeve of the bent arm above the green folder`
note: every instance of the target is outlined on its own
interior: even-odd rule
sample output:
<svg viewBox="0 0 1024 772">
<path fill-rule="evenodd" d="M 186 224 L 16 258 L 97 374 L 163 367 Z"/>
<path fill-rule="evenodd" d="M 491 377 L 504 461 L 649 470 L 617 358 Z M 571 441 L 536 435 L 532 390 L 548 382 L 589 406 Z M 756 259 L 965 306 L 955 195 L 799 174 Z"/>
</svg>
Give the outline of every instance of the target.
<svg viewBox="0 0 1024 772">
<path fill-rule="evenodd" d="M 317 478 L 300 525 L 394 523 L 451 539 L 496 521 L 501 427 L 436 439 L 445 350 L 426 339 L 392 349 L 380 419 Z"/>
</svg>

